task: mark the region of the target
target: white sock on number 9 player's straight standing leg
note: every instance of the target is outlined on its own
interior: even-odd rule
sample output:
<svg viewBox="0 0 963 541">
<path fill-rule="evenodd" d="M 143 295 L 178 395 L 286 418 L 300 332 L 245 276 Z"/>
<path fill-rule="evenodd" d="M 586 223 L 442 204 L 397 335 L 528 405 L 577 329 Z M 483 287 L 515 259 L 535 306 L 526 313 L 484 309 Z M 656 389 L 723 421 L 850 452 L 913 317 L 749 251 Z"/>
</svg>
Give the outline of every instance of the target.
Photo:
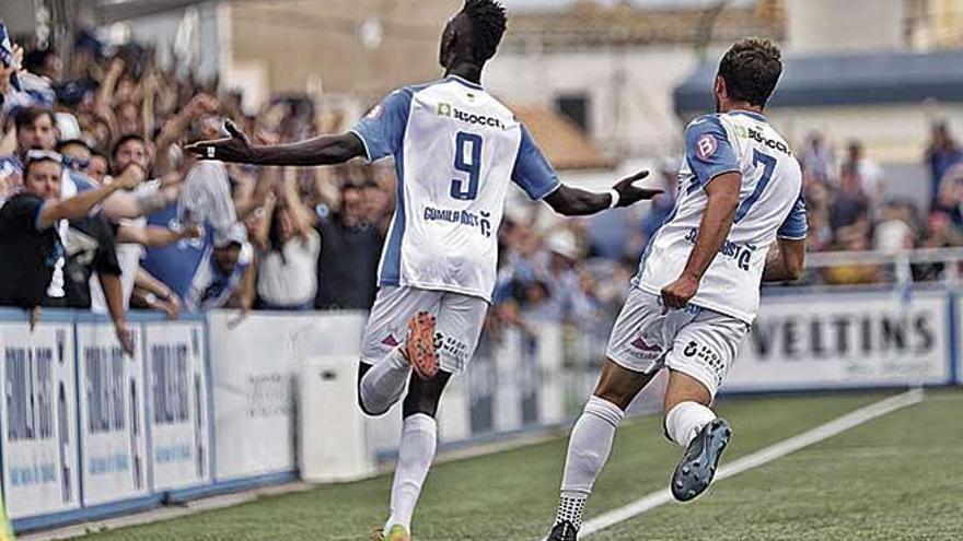
<svg viewBox="0 0 963 541">
<path fill-rule="evenodd" d="M 402 444 L 398 447 L 398 463 L 392 483 L 392 514 L 384 525 L 385 534 L 394 525 L 402 525 L 411 533 L 411 515 L 428 475 L 428 468 L 434 459 L 437 434 L 438 424 L 434 419 L 424 413 L 405 419 Z"/>
</svg>

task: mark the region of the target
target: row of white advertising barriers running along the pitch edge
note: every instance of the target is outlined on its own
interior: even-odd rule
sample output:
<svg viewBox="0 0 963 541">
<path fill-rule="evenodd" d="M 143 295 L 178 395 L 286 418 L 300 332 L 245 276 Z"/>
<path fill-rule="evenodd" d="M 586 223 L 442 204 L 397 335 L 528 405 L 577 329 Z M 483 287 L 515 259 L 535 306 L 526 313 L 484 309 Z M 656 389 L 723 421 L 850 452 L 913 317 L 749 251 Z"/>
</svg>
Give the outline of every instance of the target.
<svg viewBox="0 0 963 541">
<path fill-rule="evenodd" d="M 724 390 L 963 384 L 961 315 L 963 299 L 937 291 L 767 296 Z M 131 319 L 128 358 L 103 319 L 51 310 L 31 332 L 22 311 L 0 310 L 0 473 L 14 527 L 290 479 L 309 454 L 315 479 L 356 478 L 396 452 L 401 407 L 358 412 L 364 314 Z M 559 326 L 484 337 L 445 392 L 441 443 L 568 421 L 562 357 Z M 337 377 L 304 387 L 315 416 L 299 431 L 302 371 Z"/>
</svg>

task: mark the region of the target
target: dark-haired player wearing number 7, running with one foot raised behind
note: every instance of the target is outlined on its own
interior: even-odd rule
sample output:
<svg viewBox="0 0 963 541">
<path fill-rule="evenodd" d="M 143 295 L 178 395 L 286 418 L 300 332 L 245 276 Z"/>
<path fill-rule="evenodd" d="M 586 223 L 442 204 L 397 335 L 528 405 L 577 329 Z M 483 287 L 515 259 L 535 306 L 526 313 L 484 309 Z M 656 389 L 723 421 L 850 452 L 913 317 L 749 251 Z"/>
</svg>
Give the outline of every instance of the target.
<svg viewBox="0 0 963 541">
<path fill-rule="evenodd" d="M 625 410 L 663 367 L 664 432 L 685 449 L 672 495 L 689 501 L 716 474 L 732 431 L 709 407 L 756 316 L 759 283 L 796 280 L 805 257 L 799 163 L 763 116 L 781 73 L 770 42 L 735 43 L 713 82 L 716 114 L 685 130 L 675 209 L 642 252 L 572 428 L 549 541 L 578 537 Z"/>
</svg>

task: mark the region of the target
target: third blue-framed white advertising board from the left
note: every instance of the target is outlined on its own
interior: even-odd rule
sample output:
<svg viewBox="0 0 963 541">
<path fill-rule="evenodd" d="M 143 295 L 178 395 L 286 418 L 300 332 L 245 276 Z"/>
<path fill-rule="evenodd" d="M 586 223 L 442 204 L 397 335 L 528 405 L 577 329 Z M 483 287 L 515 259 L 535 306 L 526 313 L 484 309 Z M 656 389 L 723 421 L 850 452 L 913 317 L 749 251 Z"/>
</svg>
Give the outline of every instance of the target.
<svg viewBox="0 0 963 541">
<path fill-rule="evenodd" d="M 201 321 L 155 322 L 144 330 L 151 487 L 209 483 L 210 411 Z"/>
</svg>

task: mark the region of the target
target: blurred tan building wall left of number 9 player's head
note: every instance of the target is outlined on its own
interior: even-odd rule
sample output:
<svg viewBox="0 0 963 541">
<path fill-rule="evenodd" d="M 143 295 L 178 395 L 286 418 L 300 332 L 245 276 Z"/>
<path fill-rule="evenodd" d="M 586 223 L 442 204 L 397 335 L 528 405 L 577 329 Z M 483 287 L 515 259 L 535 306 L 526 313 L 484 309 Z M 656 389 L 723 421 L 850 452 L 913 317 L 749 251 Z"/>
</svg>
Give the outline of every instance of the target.
<svg viewBox="0 0 963 541">
<path fill-rule="evenodd" d="M 405 84 L 438 79 L 438 43 L 456 0 L 276 0 L 233 2 L 228 17 L 230 55 L 243 72 L 263 71 L 269 92 L 305 92 L 378 98 Z M 362 25 L 382 30 L 367 47 Z M 260 68 L 252 68 L 260 67 Z M 229 68 L 230 71 L 230 68 Z M 230 75 L 230 74 L 229 74 Z M 229 77 L 230 78 L 230 77 Z"/>
</svg>

